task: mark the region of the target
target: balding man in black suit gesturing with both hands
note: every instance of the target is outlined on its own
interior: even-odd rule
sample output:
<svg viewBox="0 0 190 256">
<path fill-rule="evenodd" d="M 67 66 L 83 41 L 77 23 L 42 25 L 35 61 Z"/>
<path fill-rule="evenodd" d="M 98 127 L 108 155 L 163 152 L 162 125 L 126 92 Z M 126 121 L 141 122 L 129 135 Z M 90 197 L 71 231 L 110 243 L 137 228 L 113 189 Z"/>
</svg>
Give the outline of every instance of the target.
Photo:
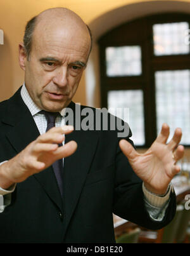
<svg viewBox="0 0 190 256">
<path fill-rule="evenodd" d="M 184 153 L 181 129 L 166 144 L 164 124 L 150 149 L 138 154 L 130 130 L 121 139 L 109 125 L 107 131 L 63 125 L 65 108 L 82 118 L 72 97 L 91 43 L 87 25 L 65 8 L 43 11 L 27 24 L 19 45 L 25 83 L 0 105 L 1 242 L 113 243 L 112 213 L 149 229 L 174 217 L 170 180 Z M 56 112 L 53 124 L 48 115 Z"/>
</svg>

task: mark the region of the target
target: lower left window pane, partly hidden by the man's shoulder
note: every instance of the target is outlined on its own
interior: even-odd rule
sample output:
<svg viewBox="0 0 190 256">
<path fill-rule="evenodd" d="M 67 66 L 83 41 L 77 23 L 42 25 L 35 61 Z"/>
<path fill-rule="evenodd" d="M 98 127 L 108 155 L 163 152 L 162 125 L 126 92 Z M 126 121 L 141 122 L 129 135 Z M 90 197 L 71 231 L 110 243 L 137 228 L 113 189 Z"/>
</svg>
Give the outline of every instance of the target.
<svg viewBox="0 0 190 256">
<path fill-rule="evenodd" d="M 129 124 L 135 145 L 144 145 L 142 90 L 108 91 L 108 110 Z"/>
</svg>

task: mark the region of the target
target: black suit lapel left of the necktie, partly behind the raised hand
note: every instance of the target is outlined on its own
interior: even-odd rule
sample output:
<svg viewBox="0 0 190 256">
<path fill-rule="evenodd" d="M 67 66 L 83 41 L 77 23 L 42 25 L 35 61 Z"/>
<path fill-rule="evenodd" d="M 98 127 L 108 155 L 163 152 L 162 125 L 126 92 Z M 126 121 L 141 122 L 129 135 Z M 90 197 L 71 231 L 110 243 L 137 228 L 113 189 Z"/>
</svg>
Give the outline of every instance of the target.
<svg viewBox="0 0 190 256">
<path fill-rule="evenodd" d="M 12 126 L 6 133 L 6 137 L 15 151 L 19 153 L 25 149 L 30 142 L 34 141 L 40 133 L 30 111 L 20 96 L 20 90 L 13 95 L 9 103 L 9 107 L 2 121 Z M 62 210 L 62 199 L 53 173 L 53 168 L 50 166 L 46 170 L 35 174 L 34 177 L 42 185 L 49 198 Z"/>
</svg>

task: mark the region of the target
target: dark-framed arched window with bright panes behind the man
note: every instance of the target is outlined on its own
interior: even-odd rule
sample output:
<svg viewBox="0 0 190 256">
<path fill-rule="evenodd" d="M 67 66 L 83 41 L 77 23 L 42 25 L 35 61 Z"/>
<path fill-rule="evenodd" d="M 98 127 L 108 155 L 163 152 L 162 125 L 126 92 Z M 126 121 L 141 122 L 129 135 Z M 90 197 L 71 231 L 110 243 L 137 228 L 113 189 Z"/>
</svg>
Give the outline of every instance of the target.
<svg viewBox="0 0 190 256">
<path fill-rule="evenodd" d="M 137 147 L 149 147 L 162 128 L 183 131 L 190 145 L 190 15 L 153 15 L 120 25 L 99 43 L 101 107 L 129 109 Z"/>
</svg>

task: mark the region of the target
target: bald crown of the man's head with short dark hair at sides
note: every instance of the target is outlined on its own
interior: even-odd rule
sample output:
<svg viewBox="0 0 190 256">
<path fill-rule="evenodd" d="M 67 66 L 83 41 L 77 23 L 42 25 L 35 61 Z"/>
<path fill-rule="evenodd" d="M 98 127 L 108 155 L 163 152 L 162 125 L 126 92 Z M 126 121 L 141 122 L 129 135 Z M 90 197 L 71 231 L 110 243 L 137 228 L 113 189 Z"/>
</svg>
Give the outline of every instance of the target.
<svg viewBox="0 0 190 256">
<path fill-rule="evenodd" d="M 39 13 L 32 18 L 26 25 L 23 43 L 27 57 L 32 50 L 32 41 L 35 38 L 42 36 L 47 37 L 49 33 L 60 28 L 65 34 L 77 39 L 77 36 L 89 37 L 89 53 L 92 48 L 92 35 L 89 27 L 84 21 L 71 10 L 66 8 L 51 8 Z"/>
</svg>

